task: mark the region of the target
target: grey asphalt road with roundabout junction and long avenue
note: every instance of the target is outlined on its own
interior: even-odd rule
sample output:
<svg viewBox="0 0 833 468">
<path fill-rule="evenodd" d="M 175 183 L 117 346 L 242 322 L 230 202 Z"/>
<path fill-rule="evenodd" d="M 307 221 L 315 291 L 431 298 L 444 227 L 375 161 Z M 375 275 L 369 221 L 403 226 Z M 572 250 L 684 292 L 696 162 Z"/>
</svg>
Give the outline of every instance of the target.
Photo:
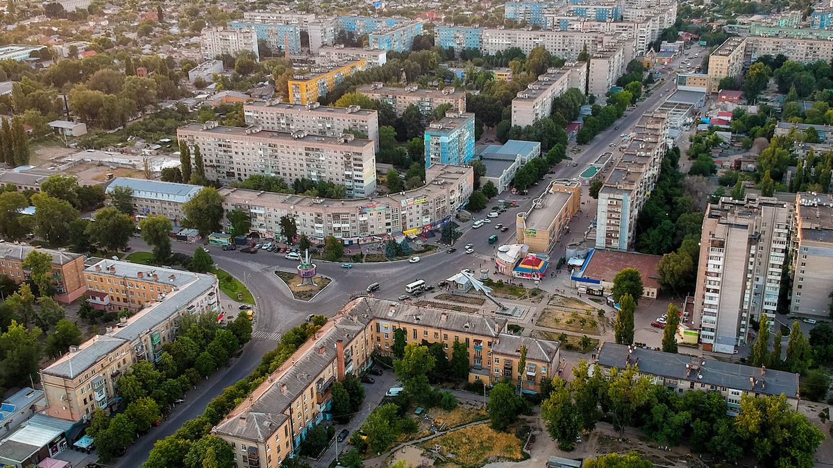
<svg viewBox="0 0 833 468">
<path fill-rule="evenodd" d="M 672 67 L 676 67 L 679 60 L 677 59 Z M 595 162 L 596 158 L 605 152 L 613 152 L 614 157 L 619 157 L 621 152 L 617 151 L 618 148 L 610 147 L 609 144 L 611 142 L 621 143 L 620 134 L 631 132 L 632 127 L 643 113 L 656 108 L 665 99 L 661 94 L 667 96 L 672 87 L 673 85 L 669 83 L 663 83 L 661 87 L 656 87 L 657 90 L 661 91 L 655 91 L 645 100 L 638 102 L 636 107 L 627 111 L 625 116 L 617 121 L 613 127 L 599 133 L 589 145 L 581 147 L 581 153 L 568 152 L 572 161 L 561 162 L 554 168 L 554 173 L 551 176 L 556 179 L 578 177 L 588 165 Z M 618 129 L 615 127 L 618 127 Z M 573 166 L 573 162 L 577 163 L 576 167 Z M 463 235 L 456 241 L 455 246 L 458 250 L 454 253 L 446 253 L 446 246 L 441 246 L 444 249 L 443 251 L 424 256 L 418 263 L 408 263 L 407 261 L 355 263 L 353 268 L 348 270 L 342 269 L 338 263 L 318 262 L 318 274 L 328 276 L 334 281 L 312 302 L 297 301 L 292 298 L 287 286 L 273 274 L 276 269 L 294 271 L 297 261 L 289 261 L 282 254 L 267 251 L 258 251 L 257 254 L 252 255 L 240 251 L 222 251 L 222 248 L 218 246 L 209 246 L 214 261 L 222 269 L 246 283 L 249 290 L 252 291 L 252 295 L 255 296 L 257 306 L 255 306 L 255 328 L 252 341 L 244 347 L 240 358 L 234 361 L 231 366 L 218 371 L 202 385 L 197 386 L 196 391 L 188 392 L 186 402 L 179 405 L 173 411 L 172 416 L 166 421 L 162 421 L 159 426 L 152 428 L 147 435 L 142 436 L 136 444 L 128 449 L 127 454 L 113 463 L 112 466 L 125 468 L 141 466 L 147 460 L 147 454 L 157 440 L 170 436 L 185 421 L 199 416 L 208 401 L 222 393 L 222 390 L 227 386 L 231 386 L 247 376 L 257 367 L 262 356 L 277 345 L 280 334 L 292 328 L 292 326 L 300 324 L 308 314 L 323 313 L 332 316 L 348 301 L 350 296 L 364 292 L 367 286 L 373 282 L 382 284 L 380 290 L 376 292 L 377 296 L 395 299 L 405 293 L 405 285 L 416 281 L 416 279 L 423 279 L 429 284 L 436 284 L 436 282 L 454 275 L 463 268 L 476 270 L 481 265 L 490 268 L 494 248 L 506 243 L 514 236 L 516 214 L 526 212 L 531 200 L 544 191 L 549 181 L 549 178 L 545 178 L 536 187 L 531 187 L 526 196 L 511 196 L 509 194 L 499 196 L 498 198 L 504 200 L 514 200 L 517 207 L 501 213 L 499 217 L 492 219 L 490 224 L 485 224 L 479 229 L 471 229 L 472 222 L 462 224 L 461 231 Z M 496 200 L 493 200 L 489 207 L 494 205 L 496 205 Z M 476 214 L 485 217 L 486 213 L 487 211 Z M 497 223 L 508 226 L 509 231 L 500 232 L 496 230 Z M 498 242 L 494 245 L 490 245 L 487 241 L 492 234 L 498 236 Z M 438 241 L 438 237 L 426 241 Z M 461 248 L 468 242 L 474 245 L 474 253 L 466 254 Z M 150 250 L 141 239 L 133 238 L 130 245 L 135 251 Z M 192 255 L 197 245 L 175 241 L 172 248 L 173 251 Z"/>
</svg>

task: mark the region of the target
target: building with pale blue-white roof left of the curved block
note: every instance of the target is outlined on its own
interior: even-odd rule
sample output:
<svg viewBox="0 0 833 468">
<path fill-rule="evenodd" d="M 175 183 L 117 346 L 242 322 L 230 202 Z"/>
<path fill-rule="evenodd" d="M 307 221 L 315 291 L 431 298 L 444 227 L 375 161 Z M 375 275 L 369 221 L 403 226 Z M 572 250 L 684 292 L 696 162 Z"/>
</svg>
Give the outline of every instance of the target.
<svg viewBox="0 0 833 468">
<path fill-rule="evenodd" d="M 174 226 L 182 222 L 182 205 L 196 197 L 202 189 L 201 186 L 191 184 L 116 177 L 107 185 L 105 192 L 111 194 L 116 187 L 131 190 L 133 216 L 137 220 L 159 215 L 167 217 Z"/>
</svg>

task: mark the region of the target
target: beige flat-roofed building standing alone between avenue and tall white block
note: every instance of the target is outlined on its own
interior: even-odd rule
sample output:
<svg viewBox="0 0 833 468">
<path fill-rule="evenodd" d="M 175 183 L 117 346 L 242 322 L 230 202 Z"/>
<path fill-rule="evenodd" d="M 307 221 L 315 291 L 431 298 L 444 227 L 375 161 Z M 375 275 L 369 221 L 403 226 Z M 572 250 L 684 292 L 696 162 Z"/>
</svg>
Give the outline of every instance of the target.
<svg viewBox="0 0 833 468">
<path fill-rule="evenodd" d="M 581 182 L 574 179 L 550 182 L 541 197 L 532 201 L 528 212 L 517 214 L 517 243 L 526 244 L 531 251 L 548 254 L 580 209 Z"/>
</svg>

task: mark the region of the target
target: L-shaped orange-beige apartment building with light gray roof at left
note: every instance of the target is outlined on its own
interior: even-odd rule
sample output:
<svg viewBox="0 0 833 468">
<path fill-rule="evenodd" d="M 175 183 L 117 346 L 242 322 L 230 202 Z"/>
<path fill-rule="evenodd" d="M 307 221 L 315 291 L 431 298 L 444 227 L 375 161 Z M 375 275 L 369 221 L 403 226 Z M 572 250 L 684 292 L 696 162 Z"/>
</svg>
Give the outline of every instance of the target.
<svg viewBox="0 0 833 468">
<path fill-rule="evenodd" d="M 88 266 L 84 275 L 91 302 L 137 313 L 40 371 L 44 414 L 68 421 L 88 421 L 97 408 L 116 406 L 118 378 L 134 362 L 158 361 L 183 316 L 219 311 L 212 275 L 112 260 Z"/>
</svg>

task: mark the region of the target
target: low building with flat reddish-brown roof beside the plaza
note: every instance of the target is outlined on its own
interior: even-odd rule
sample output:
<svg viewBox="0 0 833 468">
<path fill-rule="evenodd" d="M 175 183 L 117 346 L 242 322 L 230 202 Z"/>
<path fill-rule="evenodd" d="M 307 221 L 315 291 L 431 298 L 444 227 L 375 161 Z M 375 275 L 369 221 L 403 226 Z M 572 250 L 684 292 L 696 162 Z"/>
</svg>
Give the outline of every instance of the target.
<svg viewBox="0 0 833 468">
<path fill-rule="evenodd" d="M 642 277 L 642 297 L 656 299 L 660 291 L 656 266 L 662 256 L 634 251 L 607 251 L 593 249 L 587 254 L 581 268 L 572 271 L 571 281 L 580 292 L 591 296 L 605 296 L 613 288 L 613 278 L 625 268 L 636 268 Z"/>
</svg>

